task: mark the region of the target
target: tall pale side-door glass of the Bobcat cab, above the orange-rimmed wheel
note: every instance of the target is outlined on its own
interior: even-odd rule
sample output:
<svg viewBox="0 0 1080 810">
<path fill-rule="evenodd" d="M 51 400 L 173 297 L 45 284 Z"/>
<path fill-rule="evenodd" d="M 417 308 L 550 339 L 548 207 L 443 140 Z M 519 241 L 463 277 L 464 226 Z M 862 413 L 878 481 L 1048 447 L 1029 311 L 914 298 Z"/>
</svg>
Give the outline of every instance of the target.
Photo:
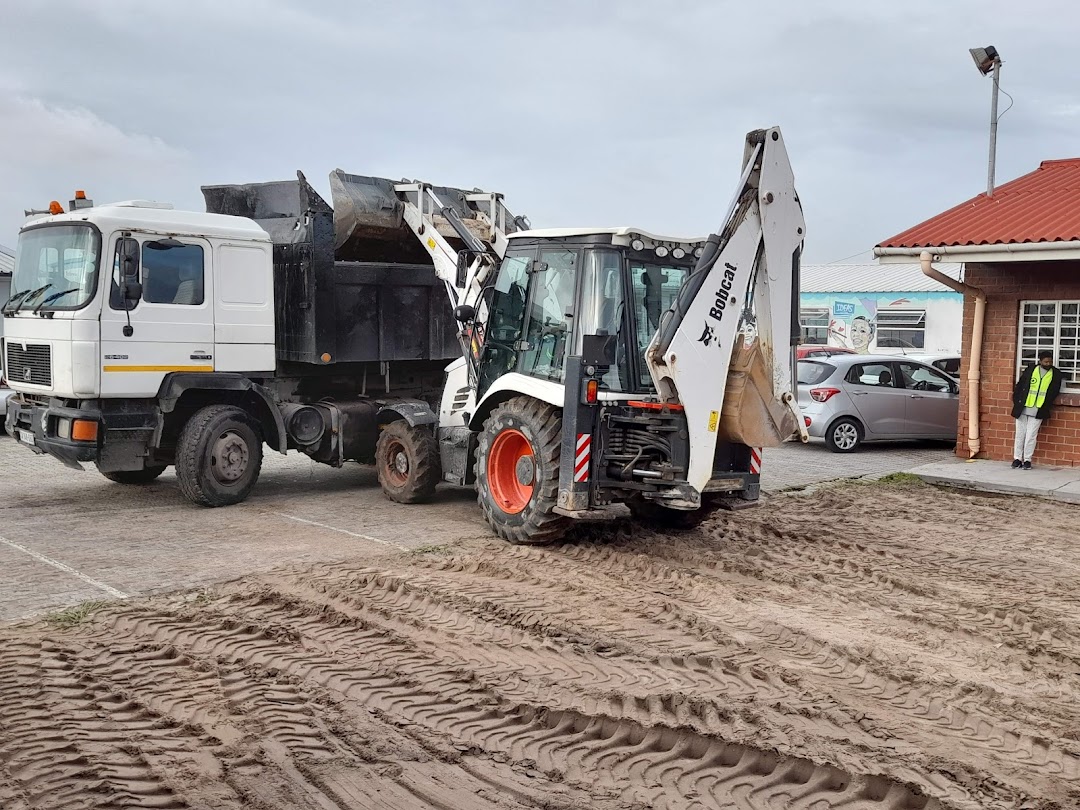
<svg viewBox="0 0 1080 810">
<path fill-rule="evenodd" d="M 540 270 L 531 279 L 529 320 L 522 356 L 524 374 L 553 380 L 563 378 L 577 275 L 577 251 L 540 252 Z"/>
</svg>

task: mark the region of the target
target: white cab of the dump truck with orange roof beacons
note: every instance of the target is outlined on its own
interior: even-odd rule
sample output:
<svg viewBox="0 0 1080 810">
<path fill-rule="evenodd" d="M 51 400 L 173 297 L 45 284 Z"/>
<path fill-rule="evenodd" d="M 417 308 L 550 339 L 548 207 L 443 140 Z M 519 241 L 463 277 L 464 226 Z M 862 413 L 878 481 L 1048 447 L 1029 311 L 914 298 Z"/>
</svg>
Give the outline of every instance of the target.
<svg viewBox="0 0 1080 810">
<path fill-rule="evenodd" d="M 175 373 L 272 373 L 271 243 L 251 220 L 151 202 L 27 225 L 3 310 L 5 426 L 66 463 L 134 472 Z"/>
</svg>

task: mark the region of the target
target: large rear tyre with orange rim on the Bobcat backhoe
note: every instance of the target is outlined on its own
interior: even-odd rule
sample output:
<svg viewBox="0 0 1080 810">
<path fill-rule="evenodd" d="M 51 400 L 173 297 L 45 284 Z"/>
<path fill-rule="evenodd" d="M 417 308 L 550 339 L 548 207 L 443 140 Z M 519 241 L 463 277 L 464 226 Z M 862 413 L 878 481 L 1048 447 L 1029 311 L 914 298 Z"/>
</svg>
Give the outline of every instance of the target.
<svg viewBox="0 0 1080 810">
<path fill-rule="evenodd" d="M 476 449 L 477 500 L 499 537 L 522 545 L 555 542 L 569 518 L 558 502 L 563 418 L 528 396 L 500 405 L 484 422 Z"/>
</svg>

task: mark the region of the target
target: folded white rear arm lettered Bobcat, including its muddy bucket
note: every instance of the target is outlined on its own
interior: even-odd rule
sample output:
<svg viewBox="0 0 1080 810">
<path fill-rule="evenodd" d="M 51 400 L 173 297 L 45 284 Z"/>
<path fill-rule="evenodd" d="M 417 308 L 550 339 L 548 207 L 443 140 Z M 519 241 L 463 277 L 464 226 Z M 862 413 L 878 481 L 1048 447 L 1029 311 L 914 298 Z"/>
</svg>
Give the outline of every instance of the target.
<svg viewBox="0 0 1080 810">
<path fill-rule="evenodd" d="M 727 218 L 646 351 L 660 399 L 685 409 L 699 492 L 718 440 L 770 447 L 805 433 L 792 359 L 804 231 L 780 130 L 750 133 Z"/>
</svg>

